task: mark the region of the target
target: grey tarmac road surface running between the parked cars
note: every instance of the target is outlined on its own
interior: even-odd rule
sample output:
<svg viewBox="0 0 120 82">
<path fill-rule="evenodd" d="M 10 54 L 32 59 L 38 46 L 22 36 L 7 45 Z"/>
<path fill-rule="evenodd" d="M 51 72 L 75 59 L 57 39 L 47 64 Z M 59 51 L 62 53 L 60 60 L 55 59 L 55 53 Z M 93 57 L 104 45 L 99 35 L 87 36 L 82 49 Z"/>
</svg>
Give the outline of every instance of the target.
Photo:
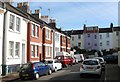
<svg viewBox="0 0 120 82">
<path fill-rule="evenodd" d="M 100 78 L 93 76 L 93 75 L 80 77 L 79 67 L 80 67 L 80 63 L 73 65 L 73 66 L 69 66 L 67 68 L 63 68 L 62 70 L 52 73 L 51 75 L 41 76 L 38 80 L 27 79 L 27 80 L 21 81 L 19 79 L 19 80 L 17 80 L 17 82 L 33 82 L 33 81 L 35 81 L 35 82 L 49 81 L 50 82 L 50 81 L 54 81 L 54 80 L 81 80 L 81 81 L 97 80 L 97 82 L 104 82 L 105 72 L 102 72 L 102 76 Z"/>
</svg>

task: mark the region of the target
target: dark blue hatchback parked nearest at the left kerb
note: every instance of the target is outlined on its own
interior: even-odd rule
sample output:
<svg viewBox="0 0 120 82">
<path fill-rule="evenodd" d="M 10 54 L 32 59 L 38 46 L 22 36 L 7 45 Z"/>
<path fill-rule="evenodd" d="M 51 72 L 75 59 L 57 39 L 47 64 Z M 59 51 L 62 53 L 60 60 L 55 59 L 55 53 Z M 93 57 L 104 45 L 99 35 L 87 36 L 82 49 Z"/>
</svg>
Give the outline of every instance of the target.
<svg viewBox="0 0 120 82">
<path fill-rule="evenodd" d="M 23 64 L 19 70 L 20 79 L 33 78 L 38 79 L 40 75 L 51 74 L 52 70 L 49 65 L 46 65 L 42 62 L 30 62 Z"/>
</svg>

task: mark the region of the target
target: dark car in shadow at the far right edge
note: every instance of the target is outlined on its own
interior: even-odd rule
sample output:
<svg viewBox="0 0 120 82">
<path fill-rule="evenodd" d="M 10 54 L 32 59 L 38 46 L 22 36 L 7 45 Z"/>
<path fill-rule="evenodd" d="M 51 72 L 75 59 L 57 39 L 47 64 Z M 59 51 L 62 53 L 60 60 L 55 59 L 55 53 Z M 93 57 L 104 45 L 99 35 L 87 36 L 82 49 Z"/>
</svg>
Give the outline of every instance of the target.
<svg viewBox="0 0 120 82">
<path fill-rule="evenodd" d="M 104 60 L 106 61 L 106 63 L 118 63 L 118 55 L 106 55 L 103 56 Z"/>
</svg>

